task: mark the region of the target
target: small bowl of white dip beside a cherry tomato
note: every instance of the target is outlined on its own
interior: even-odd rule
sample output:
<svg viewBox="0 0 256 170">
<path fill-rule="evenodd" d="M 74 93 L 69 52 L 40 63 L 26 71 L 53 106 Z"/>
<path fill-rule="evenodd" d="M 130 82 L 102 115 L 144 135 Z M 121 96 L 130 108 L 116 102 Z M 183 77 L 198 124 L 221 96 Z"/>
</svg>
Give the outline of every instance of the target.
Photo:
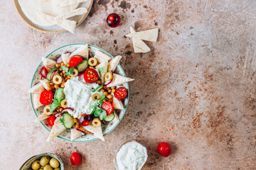
<svg viewBox="0 0 256 170">
<path fill-rule="evenodd" d="M 140 170 L 146 163 L 148 155 L 146 147 L 139 142 L 129 140 L 124 142 L 114 157 L 116 170 Z"/>
</svg>

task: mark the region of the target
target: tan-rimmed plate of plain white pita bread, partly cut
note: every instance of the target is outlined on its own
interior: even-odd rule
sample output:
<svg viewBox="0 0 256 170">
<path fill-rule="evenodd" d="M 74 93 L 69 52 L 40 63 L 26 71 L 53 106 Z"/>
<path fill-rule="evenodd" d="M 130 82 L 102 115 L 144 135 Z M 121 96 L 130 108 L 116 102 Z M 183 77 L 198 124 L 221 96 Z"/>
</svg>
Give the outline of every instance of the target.
<svg viewBox="0 0 256 170">
<path fill-rule="evenodd" d="M 18 14 L 31 28 L 44 33 L 75 33 L 93 0 L 14 0 Z"/>
</svg>

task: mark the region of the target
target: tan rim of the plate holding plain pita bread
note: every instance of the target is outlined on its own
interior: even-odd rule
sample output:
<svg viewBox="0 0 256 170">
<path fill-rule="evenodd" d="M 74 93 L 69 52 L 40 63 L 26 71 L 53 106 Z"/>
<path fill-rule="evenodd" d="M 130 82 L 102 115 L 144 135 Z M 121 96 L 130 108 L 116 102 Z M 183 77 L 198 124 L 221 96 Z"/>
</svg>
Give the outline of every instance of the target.
<svg viewBox="0 0 256 170">
<path fill-rule="evenodd" d="M 82 23 L 82 21 L 85 20 L 85 17 L 87 16 L 87 14 L 90 13 L 90 10 L 91 10 L 91 8 L 92 8 L 92 2 L 93 2 L 93 0 L 90 0 L 90 4 L 89 4 L 89 6 L 88 6 L 88 8 L 87 8 L 87 13 L 85 13 L 85 14 L 82 16 L 82 18 L 80 18 L 80 20 L 76 23 L 76 27 L 78 27 L 78 26 Z M 64 31 L 66 31 L 66 29 L 63 29 L 63 30 L 43 30 L 43 29 L 40 29 L 40 28 L 36 28 L 36 27 L 33 26 L 31 23 L 29 23 L 29 22 L 26 20 L 26 18 L 24 18 L 24 17 L 21 15 L 22 9 L 21 9 L 21 11 L 18 9 L 18 6 L 20 6 L 20 4 L 18 4 L 18 0 L 14 0 L 14 4 L 15 4 L 15 7 L 16 7 L 16 10 L 18 11 L 18 15 L 21 16 L 22 20 L 23 20 L 25 23 L 27 23 L 28 26 L 30 26 L 31 28 L 33 28 L 33 29 L 35 29 L 35 30 L 38 30 L 38 31 L 41 31 L 41 32 L 43 32 L 43 33 L 62 33 L 62 32 L 64 32 Z M 20 7 L 20 8 L 21 8 L 21 7 Z M 22 11 L 22 12 L 23 12 L 23 11 Z M 25 15 L 25 13 L 24 13 L 24 15 Z M 26 16 L 26 15 L 25 15 L 25 16 Z M 32 21 L 31 21 L 31 22 L 32 22 Z M 33 22 L 32 22 L 32 23 L 33 23 Z"/>
</svg>

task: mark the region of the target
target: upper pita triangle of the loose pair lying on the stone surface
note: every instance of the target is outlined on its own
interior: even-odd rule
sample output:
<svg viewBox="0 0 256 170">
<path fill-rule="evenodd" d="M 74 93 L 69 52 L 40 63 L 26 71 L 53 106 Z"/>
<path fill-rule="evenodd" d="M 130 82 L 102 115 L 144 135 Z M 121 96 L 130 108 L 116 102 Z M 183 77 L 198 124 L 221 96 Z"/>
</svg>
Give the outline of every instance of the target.
<svg viewBox="0 0 256 170">
<path fill-rule="evenodd" d="M 126 37 L 132 38 L 139 38 L 141 40 L 147 40 L 156 42 L 159 33 L 159 28 L 151 29 L 151 30 L 144 30 L 141 32 L 132 32 L 126 35 Z"/>
</svg>

